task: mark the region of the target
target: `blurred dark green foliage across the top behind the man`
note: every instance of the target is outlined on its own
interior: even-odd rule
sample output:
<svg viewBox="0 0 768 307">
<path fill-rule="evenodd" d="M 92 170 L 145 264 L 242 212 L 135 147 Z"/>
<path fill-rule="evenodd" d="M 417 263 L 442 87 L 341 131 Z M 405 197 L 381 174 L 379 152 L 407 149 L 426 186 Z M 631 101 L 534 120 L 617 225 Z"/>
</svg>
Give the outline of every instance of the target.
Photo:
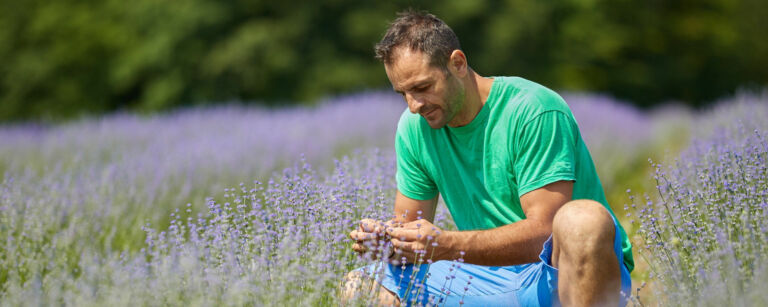
<svg viewBox="0 0 768 307">
<path fill-rule="evenodd" d="M 0 121 L 387 86 L 372 47 L 429 10 L 481 74 L 700 105 L 768 82 L 761 0 L 0 0 Z"/>
</svg>

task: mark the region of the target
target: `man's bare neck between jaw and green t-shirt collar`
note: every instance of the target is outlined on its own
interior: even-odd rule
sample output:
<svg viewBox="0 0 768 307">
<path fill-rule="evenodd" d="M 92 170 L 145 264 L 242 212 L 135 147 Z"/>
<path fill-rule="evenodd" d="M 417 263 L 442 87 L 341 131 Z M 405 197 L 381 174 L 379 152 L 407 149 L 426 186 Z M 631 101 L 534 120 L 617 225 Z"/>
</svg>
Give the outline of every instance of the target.
<svg viewBox="0 0 768 307">
<path fill-rule="evenodd" d="M 448 124 L 450 127 L 461 127 L 471 123 L 480 113 L 491 92 L 493 78 L 485 78 L 471 69 L 469 72 L 467 79 L 462 81 L 465 84 L 464 104 L 456 115 L 456 123 Z"/>
</svg>

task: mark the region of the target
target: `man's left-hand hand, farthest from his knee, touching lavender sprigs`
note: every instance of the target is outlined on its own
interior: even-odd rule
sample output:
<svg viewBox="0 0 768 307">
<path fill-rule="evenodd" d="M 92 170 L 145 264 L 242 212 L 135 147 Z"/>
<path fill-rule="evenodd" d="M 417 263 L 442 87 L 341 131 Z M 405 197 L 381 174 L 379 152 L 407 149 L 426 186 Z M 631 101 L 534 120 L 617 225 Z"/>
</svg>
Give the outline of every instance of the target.
<svg viewBox="0 0 768 307">
<path fill-rule="evenodd" d="M 389 244 L 386 233 L 387 228 L 397 227 L 392 220 L 382 222 L 374 219 L 362 219 L 357 229 L 349 233 L 349 237 L 355 240 L 352 249 L 361 256 L 369 255 L 375 260 L 380 256 L 387 256 L 385 249 Z"/>
</svg>

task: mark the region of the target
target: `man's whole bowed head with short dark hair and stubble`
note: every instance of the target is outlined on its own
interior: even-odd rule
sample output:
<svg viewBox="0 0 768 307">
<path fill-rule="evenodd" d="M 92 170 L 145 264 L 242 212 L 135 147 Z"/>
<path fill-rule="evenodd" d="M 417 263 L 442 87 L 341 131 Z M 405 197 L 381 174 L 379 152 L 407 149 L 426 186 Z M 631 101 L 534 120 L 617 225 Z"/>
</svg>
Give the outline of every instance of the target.
<svg viewBox="0 0 768 307">
<path fill-rule="evenodd" d="M 392 87 L 432 128 L 452 125 L 463 106 L 468 67 L 453 30 L 432 14 L 400 13 L 376 45 Z"/>
</svg>

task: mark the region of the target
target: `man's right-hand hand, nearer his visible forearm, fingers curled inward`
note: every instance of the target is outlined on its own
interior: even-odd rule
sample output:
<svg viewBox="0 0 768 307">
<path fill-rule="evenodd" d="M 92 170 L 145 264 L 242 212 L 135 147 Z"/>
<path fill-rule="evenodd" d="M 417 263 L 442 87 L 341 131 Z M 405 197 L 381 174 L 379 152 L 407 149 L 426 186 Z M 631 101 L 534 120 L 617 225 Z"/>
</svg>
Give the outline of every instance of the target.
<svg viewBox="0 0 768 307">
<path fill-rule="evenodd" d="M 394 260 L 405 258 L 406 263 L 427 263 L 452 259 L 454 251 L 448 248 L 444 232 L 425 219 L 408 222 L 402 227 L 386 229 L 395 248 Z M 441 245 L 443 244 L 443 245 Z"/>
</svg>

